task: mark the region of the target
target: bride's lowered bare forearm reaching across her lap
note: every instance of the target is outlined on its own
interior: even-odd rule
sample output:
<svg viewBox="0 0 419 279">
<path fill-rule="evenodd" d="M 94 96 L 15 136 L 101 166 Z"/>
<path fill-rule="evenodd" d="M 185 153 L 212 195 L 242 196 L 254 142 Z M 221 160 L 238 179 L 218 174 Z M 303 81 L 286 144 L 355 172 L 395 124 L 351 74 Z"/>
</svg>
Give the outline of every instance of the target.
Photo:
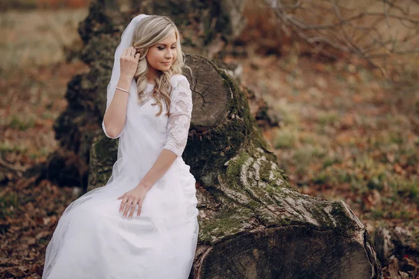
<svg viewBox="0 0 419 279">
<path fill-rule="evenodd" d="M 163 149 L 154 162 L 153 166 L 149 169 L 147 174 L 138 183 L 139 187 L 145 187 L 147 190 L 151 189 L 152 186 L 159 181 L 163 174 L 166 174 L 168 169 L 175 162 L 177 155 L 168 149 Z"/>
</svg>

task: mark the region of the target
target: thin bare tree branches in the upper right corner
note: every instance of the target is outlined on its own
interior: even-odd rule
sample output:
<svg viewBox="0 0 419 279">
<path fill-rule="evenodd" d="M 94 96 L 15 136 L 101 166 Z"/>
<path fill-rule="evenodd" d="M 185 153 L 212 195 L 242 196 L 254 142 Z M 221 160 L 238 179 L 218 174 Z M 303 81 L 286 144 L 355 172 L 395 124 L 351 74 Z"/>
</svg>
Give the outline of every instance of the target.
<svg viewBox="0 0 419 279">
<path fill-rule="evenodd" d="M 388 66 L 418 59 L 418 0 L 263 1 L 281 28 L 313 45 L 314 52 L 332 58 L 355 54 L 386 76 Z"/>
</svg>

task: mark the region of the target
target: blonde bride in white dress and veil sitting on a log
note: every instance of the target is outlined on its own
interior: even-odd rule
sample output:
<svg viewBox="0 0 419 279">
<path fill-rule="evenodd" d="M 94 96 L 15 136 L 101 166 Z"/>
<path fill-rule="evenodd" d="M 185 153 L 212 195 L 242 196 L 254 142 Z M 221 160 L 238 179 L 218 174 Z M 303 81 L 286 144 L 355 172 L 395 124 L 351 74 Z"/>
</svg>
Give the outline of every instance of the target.
<svg viewBox="0 0 419 279">
<path fill-rule="evenodd" d="M 138 15 L 124 33 L 108 84 L 103 131 L 119 137 L 105 186 L 64 211 L 43 278 L 186 279 L 198 239 L 195 179 L 184 163 L 192 112 L 179 31 Z"/>
</svg>

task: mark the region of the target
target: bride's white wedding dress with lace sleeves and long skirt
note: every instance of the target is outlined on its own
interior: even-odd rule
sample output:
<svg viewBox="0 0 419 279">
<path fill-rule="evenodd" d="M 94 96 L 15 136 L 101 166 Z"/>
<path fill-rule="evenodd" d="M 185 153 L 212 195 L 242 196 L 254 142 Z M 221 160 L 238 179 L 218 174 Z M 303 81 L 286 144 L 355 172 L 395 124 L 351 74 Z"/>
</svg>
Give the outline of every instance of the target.
<svg viewBox="0 0 419 279">
<path fill-rule="evenodd" d="M 43 278 L 188 278 L 198 239 L 196 181 L 182 159 L 192 99 L 184 75 L 171 83 L 170 117 L 166 110 L 156 116 L 154 85 L 140 104 L 130 94 L 112 176 L 66 208 L 47 246 Z M 175 163 L 147 193 L 141 215 L 122 218 L 117 197 L 137 186 L 163 149 L 177 154 Z"/>
</svg>

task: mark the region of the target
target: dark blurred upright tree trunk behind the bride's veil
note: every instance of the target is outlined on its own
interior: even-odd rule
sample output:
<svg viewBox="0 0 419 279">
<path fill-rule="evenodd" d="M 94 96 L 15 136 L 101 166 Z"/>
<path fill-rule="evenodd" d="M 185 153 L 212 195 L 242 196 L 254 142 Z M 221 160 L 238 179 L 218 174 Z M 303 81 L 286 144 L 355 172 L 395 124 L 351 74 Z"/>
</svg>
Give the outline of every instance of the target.
<svg viewBox="0 0 419 279">
<path fill-rule="evenodd" d="M 61 147 L 48 159 L 43 178 L 86 190 L 90 146 L 105 112 L 103 100 L 115 48 L 133 15 L 169 15 L 182 33 L 185 49 L 214 55 L 244 28 L 243 6 L 241 0 L 92 1 L 89 15 L 79 26 L 84 42 L 80 58 L 90 72 L 68 82 L 68 106 L 54 123 Z"/>
</svg>

